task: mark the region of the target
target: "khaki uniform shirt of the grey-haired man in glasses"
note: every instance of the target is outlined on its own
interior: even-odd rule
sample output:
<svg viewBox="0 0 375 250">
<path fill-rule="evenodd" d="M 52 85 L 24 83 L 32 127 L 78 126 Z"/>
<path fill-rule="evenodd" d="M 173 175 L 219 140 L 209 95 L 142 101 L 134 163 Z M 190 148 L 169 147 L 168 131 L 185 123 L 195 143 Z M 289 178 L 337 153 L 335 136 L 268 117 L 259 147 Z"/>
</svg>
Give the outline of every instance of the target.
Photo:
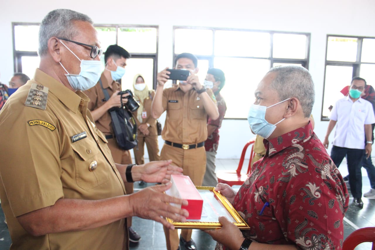
<svg viewBox="0 0 375 250">
<path fill-rule="evenodd" d="M 46 103 L 39 105 L 45 110 L 25 105 L 31 86 L 48 88 Z M 31 101 L 36 100 L 35 93 Z M 125 219 L 90 230 L 34 237 L 16 218 L 58 199 L 99 200 L 125 194 L 88 102 L 81 91 L 74 93 L 37 69 L 34 80 L 20 87 L 1 110 L 0 198 L 12 238 L 10 249 L 127 248 Z M 93 161 L 97 168 L 89 171 Z"/>
</svg>

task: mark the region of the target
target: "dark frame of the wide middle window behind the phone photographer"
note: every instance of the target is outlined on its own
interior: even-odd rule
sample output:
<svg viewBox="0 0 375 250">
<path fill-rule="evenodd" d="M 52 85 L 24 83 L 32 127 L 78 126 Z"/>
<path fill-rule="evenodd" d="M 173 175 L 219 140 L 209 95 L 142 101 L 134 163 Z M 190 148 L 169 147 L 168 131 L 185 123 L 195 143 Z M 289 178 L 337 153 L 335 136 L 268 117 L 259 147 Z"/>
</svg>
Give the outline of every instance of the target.
<svg viewBox="0 0 375 250">
<path fill-rule="evenodd" d="M 310 60 L 310 43 L 311 43 L 311 33 L 308 32 L 287 32 L 287 31 L 275 31 L 275 30 L 253 30 L 253 29 L 235 29 L 235 28 L 217 28 L 217 27 L 198 27 L 198 26 L 173 26 L 173 45 L 172 45 L 172 57 L 173 57 L 173 68 L 175 68 L 175 58 L 178 54 L 175 53 L 175 30 L 176 29 L 199 29 L 199 30 L 212 30 L 212 51 L 210 55 L 198 55 L 195 56 L 198 60 L 208 60 L 208 67 L 214 67 L 213 61 L 215 57 L 230 57 L 230 58 L 244 58 L 244 59 L 266 59 L 270 61 L 270 68 L 273 67 L 274 63 L 298 63 L 301 64 L 304 68 L 309 69 L 309 60 Z M 251 57 L 251 56 L 215 56 L 214 55 L 214 45 L 215 45 L 215 32 L 216 30 L 225 30 L 225 31 L 240 31 L 240 32 L 258 32 L 258 33 L 269 33 L 270 34 L 270 54 L 268 57 Z M 305 59 L 291 59 L 291 58 L 275 58 L 273 57 L 273 35 L 278 34 L 290 34 L 290 35 L 305 35 L 306 36 L 306 52 Z M 175 83 L 175 81 L 173 82 Z M 225 120 L 246 120 L 247 118 L 241 117 L 230 117 Z"/>
</svg>

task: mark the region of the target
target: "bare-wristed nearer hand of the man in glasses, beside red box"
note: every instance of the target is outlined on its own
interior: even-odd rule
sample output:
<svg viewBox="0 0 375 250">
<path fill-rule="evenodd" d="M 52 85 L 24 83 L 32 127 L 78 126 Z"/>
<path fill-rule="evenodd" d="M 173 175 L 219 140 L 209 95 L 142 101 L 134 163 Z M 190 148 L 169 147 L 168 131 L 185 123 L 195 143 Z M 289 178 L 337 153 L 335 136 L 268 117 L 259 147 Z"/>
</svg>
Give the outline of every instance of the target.
<svg viewBox="0 0 375 250">
<path fill-rule="evenodd" d="M 168 217 L 174 221 L 186 221 L 189 212 L 186 209 L 171 206 L 169 203 L 187 206 L 187 201 L 163 193 L 171 186 L 172 183 L 168 182 L 130 194 L 129 205 L 133 208 L 133 216 L 160 222 L 169 229 L 174 229 L 174 226 L 162 217 Z"/>
</svg>

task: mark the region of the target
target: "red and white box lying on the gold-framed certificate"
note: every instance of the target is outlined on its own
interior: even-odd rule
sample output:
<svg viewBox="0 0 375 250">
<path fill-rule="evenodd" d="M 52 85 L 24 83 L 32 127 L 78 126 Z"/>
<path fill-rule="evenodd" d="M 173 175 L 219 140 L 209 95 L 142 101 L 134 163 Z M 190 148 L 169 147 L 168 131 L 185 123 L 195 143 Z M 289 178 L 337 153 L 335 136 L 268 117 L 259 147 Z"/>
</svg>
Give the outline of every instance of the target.
<svg viewBox="0 0 375 250">
<path fill-rule="evenodd" d="M 186 209 L 189 212 L 187 220 L 200 220 L 203 208 L 203 199 L 196 190 L 195 185 L 189 176 L 186 175 L 171 175 L 172 187 L 165 193 L 180 199 L 187 200 L 187 206 L 171 204 Z"/>
</svg>

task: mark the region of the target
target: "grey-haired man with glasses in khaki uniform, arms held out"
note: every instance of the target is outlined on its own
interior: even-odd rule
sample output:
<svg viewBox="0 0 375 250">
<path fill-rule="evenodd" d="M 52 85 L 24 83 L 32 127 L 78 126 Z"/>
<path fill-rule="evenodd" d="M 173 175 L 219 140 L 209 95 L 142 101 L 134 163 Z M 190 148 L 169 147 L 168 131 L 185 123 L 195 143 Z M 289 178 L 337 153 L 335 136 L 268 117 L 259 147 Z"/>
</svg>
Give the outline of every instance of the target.
<svg viewBox="0 0 375 250">
<path fill-rule="evenodd" d="M 7 143 L 0 146 L 0 199 L 10 249 L 128 249 L 126 217 L 169 228 L 161 216 L 185 220 L 187 211 L 165 203 L 187 203 L 163 194 L 170 182 L 126 195 L 126 182 L 167 183 L 182 169 L 171 161 L 114 163 L 81 92 L 99 79 L 99 46 L 89 17 L 49 12 L 40 25 L 34 80 L 1 110 L 0 140 Z"/>
</svg>

